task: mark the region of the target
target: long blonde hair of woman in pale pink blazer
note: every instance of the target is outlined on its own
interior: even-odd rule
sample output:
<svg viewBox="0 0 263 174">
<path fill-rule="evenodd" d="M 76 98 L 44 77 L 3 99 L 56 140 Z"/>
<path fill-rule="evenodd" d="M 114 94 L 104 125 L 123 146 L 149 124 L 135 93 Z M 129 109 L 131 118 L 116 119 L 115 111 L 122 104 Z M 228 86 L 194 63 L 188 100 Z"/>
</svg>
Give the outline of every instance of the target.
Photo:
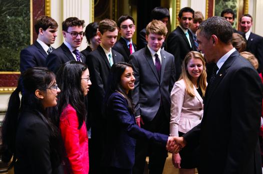
<svg viewBox="0 0 263 174">
<path fill-rule="evenodd" d="M 199 86 L 199 88 L 201 88 L 202 97 L 203 97 L 205 94 L 205 89 L 206 89 L 206 68 L 205 68 L 205 60 L 204 60 L 203 56 L 201 55 L 201 53 L 199 53 L 197 51 L 190 51 L 185 56 L 183 63 L 182 63 L 182 73 L 181 73 L 179 80 L 181 80 L 181 79 L 184 80 L 185 88 L 186 88 L 185 90 L 186 90 L 187 94 L 189 94 L 191 97 L 194 97 L 195 96 L 194 86 L 193 86 L 192 81 L 190 80 L 191 76 L 187 71 L 187 64 L 192 58 L 201 60 L 202 64 L 203 64 L 203 72 L 198 77 L 198 81 L 197 81 L 197 85 Z"/>
</svg>

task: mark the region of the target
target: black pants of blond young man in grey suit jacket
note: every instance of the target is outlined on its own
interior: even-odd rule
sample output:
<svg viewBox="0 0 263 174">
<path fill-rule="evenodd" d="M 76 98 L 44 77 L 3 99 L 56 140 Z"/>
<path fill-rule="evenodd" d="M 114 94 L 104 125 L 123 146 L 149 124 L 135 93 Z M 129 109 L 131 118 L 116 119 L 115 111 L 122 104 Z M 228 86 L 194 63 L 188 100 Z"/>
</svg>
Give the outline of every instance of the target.
<svg viewBox="0 0 263 174">
<path fill-rule="evenodd" d="M 141 127 L 151 132 L 169 134 L 169 119 L 165 116 L 163 107 L 160 107 L 152 121 L 144 121 Z M 146 156 L 149 155 L 149 174 L 162 174 L 167 150 L 164 146 L 150 143 L 147 140 L 136 141 L 135 164 L 133 174 L 142 174 L 145 167 Z"/>
</svg>

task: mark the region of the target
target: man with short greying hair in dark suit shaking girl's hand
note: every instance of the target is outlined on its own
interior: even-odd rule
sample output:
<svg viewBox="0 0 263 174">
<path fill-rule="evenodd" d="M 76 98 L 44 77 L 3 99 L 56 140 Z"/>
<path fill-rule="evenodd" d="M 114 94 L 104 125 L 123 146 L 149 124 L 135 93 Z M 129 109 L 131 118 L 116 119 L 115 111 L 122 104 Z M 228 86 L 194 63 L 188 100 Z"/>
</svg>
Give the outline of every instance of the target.
<svg viewBox="0 0 263 174">
<path fill-rule="evenodd" d="M 199 125 L 175 138 L 182 147 L 200 141 L 198 173 L 262 173 L 258 133 L 262 82 L 231 45 L 231 25 L 211 17 L 197 31 L 198 49 L 215 66 Z"/>
</svg>

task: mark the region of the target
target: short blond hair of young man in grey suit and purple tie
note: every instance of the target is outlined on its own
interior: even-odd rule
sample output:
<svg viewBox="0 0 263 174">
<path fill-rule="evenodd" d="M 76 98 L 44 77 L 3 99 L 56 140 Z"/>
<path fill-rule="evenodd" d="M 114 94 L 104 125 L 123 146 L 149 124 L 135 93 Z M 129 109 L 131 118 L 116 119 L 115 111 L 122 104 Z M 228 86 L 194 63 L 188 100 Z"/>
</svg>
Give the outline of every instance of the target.
<svg viewBox="0 0 263 174">
<path fill-rule="evenodd" d="M 161 21 L 153 20 L 146 26 L 146 35 L 149 36 L 150 33 L 165 36 L 167 34 L 167 28 Z"/>
</svg>

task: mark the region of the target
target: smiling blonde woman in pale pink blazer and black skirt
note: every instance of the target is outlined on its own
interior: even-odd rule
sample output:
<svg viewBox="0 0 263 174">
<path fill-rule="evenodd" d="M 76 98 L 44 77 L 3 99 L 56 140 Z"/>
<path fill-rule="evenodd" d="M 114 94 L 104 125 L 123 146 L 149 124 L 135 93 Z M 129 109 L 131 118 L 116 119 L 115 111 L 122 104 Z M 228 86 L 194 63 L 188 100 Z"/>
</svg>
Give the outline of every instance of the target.
<svg viewBox="0 0 263 174">
<path fill-rule="evenodd" d="M 189 52 L 182 63 L 182 74 L 171 91 L 170 134 L 181 136 L 199 124 L 203 115 L 203 97 L 206 89 L 205 61 L 196 51 Z M 195 147 L 184 147 L 174 153 L 172 160 L 180 174 L 195 172 L 198 159 Z"/>
</svg>

